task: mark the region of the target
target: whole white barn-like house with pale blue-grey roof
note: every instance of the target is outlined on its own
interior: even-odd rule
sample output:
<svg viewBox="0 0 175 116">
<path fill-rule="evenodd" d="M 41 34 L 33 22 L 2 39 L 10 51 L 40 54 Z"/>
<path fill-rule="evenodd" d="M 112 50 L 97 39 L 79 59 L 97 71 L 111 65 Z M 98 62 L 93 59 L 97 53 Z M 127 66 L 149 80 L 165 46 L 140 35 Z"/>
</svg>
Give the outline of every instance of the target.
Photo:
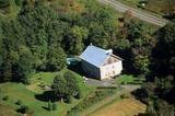
<svg viewBox="0 0 175 116">
<path fill-rule="evenodd" d="M 83 71 L 91 78 L 109 79 L 120 74 L 122 70 L 122 59 L 115 56 L 112 49 L 105 50 L 90 45 L 80 58 Z"/>
</svg>

